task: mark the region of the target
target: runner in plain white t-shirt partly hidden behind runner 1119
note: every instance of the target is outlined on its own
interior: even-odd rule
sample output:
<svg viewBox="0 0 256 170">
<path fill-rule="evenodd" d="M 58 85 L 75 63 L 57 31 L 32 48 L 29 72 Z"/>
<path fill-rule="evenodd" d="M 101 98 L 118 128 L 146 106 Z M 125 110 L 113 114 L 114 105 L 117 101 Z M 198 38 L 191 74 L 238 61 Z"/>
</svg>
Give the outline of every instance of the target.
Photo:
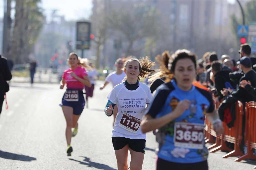
<svg viewBox="0 0 256 170">
<path fill-rule="evenodd" d="M 124 79 L 125 77 L 125 73 L 123 71 L 123 60 L 121 58 L 118 58 L 116 61 L 115 61 L 115 67 L 116 67 L 116 71 L 110 73 L 104 83 L 100 86 L 100 90 L 102 90 L 103 88 L 105 88 L 105 86 L 107 84 L 109 84 L 110 82 L 112 83 L 113 85 L 113 88 L 115 87 L 115 85 L 119 84 L 122 82 L 122 80 Z M 114 121 L 113 121 L 113 126 L 114 126 L 114 123 L 115 123 L 115 117 L 116 117 L 116 114 L 118 112 L 118 109 L 117 107 L 114 107 L 114 112 L 113 112 L 113 115 L 114 115 Z"/>
</svg>

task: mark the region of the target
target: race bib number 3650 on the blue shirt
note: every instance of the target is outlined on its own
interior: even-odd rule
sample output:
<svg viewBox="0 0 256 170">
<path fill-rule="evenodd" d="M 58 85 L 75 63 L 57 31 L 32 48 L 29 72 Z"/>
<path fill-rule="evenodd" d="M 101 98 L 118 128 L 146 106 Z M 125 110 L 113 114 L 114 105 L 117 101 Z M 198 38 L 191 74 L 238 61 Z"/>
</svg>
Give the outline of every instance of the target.
<svg viewBox="0 0 256 170">
<path fill-rule="evenodd" d="M 203 149 L 203 124 L 176 122 L 174 127 L 174 146 L 190 149 Z"/>
</svg>

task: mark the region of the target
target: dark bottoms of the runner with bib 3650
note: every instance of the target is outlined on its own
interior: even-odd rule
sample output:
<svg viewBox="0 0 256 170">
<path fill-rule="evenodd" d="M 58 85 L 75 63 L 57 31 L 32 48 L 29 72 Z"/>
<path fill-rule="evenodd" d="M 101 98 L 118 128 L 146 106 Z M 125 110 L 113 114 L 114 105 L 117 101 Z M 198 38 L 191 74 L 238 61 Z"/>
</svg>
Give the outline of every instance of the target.
<svg viewBox="0 0 256 170">
<path fill-rule="evenodd" d="M 175 163 L 157 158 L 156 170 L 208 170 L 207 161 L 197 162 L 197 163 Z"/>
</svg>

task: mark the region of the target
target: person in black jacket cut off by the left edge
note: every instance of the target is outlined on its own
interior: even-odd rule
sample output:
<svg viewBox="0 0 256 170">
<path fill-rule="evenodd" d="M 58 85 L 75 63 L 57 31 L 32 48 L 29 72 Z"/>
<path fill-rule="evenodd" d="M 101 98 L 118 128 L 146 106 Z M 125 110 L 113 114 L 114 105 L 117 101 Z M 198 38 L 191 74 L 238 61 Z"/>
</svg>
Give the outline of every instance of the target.
<svg viewBox="0 0 256 170">
<path fill-rule="evenodd" d="M 0 55 L 0 114 L 2 112 L 4 95 L 9 90 L 9 85 L 6 81 L 11 79 L 12 74 L 9 70 L 7 59 Z"/>
</svg>

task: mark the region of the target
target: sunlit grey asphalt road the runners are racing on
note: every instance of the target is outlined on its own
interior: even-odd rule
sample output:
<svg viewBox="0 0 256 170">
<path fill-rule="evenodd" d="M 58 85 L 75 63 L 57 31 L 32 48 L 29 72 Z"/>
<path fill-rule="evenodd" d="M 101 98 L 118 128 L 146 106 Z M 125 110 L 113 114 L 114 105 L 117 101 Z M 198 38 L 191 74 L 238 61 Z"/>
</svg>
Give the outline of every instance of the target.
<svg viewBox="0 0 256 170">
<path fill-rule="evenodd" d="M 0 169 L 117 169 L 111 140 L 113 117 L 104 107 L 112 86 L 89 98 L 78 123 L 78 134 L 72 138 L 72 156 L 67 156 L 66 122 L 61 107 L 64 89 L 58 84 L 11 83 L 7 93 L 9 109 L 0 117 Z M 5 102 L 4 102 L 5 103 Z M 157 143 L 147 133 L 143 169 L 155 169 Z M 256 161 L 234 162 L 236 157 L 221 158 L 225 152 L 210 153 L 209 169 L 253 169 Z M 128 162 L 130 161 L 130 156 Z M 129 163 L 128 163 L 129 165 Z"/>
</svg>

